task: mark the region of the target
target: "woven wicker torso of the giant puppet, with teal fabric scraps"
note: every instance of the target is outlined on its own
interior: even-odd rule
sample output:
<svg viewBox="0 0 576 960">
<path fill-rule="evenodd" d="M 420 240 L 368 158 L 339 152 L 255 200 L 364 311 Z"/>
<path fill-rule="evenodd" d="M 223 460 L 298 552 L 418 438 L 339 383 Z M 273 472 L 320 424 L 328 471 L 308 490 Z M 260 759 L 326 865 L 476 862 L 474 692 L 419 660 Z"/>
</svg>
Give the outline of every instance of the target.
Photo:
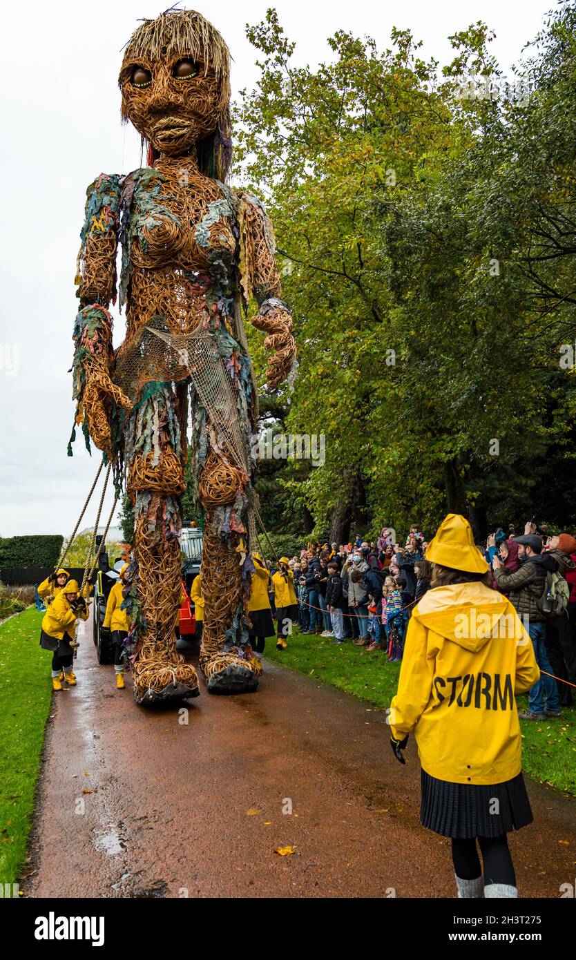
<svg viewBox="0 0 576 960">
<path fill-rule="evenodd" d="M 126 178 L 124 217 L 128 340 L 157 316 L 180 333 L 209 320 L 214 303 L 229 312 L 238 230 L 226 187 L 184 160 L 158 161 Z"/>
</svg>

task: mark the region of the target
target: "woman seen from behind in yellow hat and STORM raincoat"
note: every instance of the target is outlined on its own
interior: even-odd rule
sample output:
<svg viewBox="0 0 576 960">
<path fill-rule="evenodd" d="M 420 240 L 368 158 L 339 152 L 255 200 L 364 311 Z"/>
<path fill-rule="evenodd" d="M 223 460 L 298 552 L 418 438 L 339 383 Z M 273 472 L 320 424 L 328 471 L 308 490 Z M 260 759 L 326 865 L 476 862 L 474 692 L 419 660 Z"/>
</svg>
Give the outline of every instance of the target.
<svg viewBox="0 0 576 960">
<path fill-rule="evenodd" d="M 451 838 L 458 896 L 517 897 L 506 834 L 532 823 L 532 811 L 515 694 L 529 690 L 540 670 L 516 610 L 490 587 L 464 516 L 444 518 L 426 560 L 432 583 L 408 625 L 390 708 L 392 748 L 404 763 L 414 732 L 420 821 Z"/>
</svg>

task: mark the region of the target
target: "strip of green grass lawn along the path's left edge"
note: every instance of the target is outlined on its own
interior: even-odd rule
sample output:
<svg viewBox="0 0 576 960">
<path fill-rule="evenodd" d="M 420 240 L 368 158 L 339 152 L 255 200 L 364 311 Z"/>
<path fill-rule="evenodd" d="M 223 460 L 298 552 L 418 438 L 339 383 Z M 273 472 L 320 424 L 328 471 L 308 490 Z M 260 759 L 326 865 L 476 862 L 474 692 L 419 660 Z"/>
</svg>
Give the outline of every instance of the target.
<svg viewBox="0 0 576 960">
<path fill-rule="evenodd" d="M 29 607 L 0 624 L 0 883 L 14 883 L 24 864 L 50 711 L 41 621 L 42 613 Z"/>
</svg>

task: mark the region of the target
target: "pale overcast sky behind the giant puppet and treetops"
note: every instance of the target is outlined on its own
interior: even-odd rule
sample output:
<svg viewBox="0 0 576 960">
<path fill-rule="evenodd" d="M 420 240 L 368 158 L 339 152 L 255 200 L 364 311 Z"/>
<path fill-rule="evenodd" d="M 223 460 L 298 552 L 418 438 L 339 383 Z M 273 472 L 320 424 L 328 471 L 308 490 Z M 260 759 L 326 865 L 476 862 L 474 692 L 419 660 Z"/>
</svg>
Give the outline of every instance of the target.
<svg viewBox="0 0 576 960">
<path fill-rule="evenodd" d="M 200 12 L 228 41 L 233 93 L 257 76 L 246 23 L 259 22 L 272 5 L 199 0 Z M 447 36 L 483 19 L 496 32 L 492 49 L 508 73 L 553 2 L 278 0 L 275 6 L 297 42 L 299 65 L 327 59 L 325 40 L 336 30 L 369 34 L 383 48 L 393 26 L 410 28 L 424 41 L 424 57 L 444 63 L 451 59 Z M 120 123 L 117 75 L 138 19 L 158 12 L 151 0 L 32 0 L 3 12 L 0 536 L 68 535 L 99 463 L 99 452 L 90 459 L 82 439 L 74 457 L 66 456 L 79 232 L 88 183 L 102 171 L 127 173 L 140 165 L 138 137 Z M 120 320 L 114 346 L 122 336 Z M 86 515 L 82 526 L 94 516 Z"/>
</svg>

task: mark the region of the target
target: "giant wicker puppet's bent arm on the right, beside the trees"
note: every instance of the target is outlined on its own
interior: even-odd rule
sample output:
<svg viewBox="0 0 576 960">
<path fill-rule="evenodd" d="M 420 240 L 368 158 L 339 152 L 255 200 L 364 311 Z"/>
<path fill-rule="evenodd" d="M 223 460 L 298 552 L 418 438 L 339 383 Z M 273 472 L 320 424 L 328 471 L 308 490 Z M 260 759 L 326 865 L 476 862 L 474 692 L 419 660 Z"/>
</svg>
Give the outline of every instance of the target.
<svg viewBox="0 0 576 960">
<path fill-rule="evenodd" d="M 290 310 L 280 300 L 280 278 L 274 256 L 272 223 L 257 200 L 243 193 L 240 197 L 240 283 L 245 303 L 251 296 L 258 303 L 252 325 L 264 330 L 264 348 L 272 355 L 266 378 L 270 390 L 282 383 L 296 360 L 296 344 Z"/>
</svg>

